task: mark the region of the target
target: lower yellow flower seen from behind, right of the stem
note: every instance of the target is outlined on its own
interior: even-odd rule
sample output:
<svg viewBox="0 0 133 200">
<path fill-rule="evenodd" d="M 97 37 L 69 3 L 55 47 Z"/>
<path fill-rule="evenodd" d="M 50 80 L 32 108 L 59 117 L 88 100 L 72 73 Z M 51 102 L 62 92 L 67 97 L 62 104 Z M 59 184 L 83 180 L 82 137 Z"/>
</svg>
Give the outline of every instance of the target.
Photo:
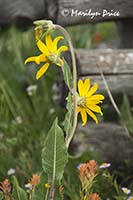
<svg viewBox="0 0 133 200">
<path fill-rule="evenodd" d="M 87 122 L 87 114 L 92 117 L 96 124 L 98 123 L 98 119 L 93 112 L 103 115 L 101 108 L 97 104 L 102 103 L 104 96 L 101 94 L 94 94 L 97 89 L 97 83 L 94 83 L 94 85 L 90 87 L 90 79 L 86 79 L 84 82 L 82 80 L 78 81 L 79 95 L 77 97 L 77 109 L 82 117 L 82 126 Z"/>
</svg>

